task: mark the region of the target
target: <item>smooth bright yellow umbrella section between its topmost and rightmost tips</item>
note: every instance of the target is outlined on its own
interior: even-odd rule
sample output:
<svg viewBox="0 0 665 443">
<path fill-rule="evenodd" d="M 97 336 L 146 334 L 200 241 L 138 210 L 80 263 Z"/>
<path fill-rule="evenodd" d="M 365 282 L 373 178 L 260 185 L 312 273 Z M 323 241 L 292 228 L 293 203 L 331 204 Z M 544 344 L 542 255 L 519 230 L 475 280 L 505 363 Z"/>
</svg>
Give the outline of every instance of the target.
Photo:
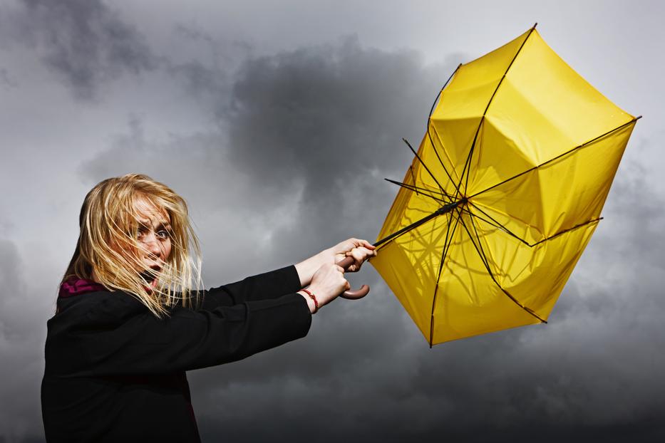
<svg viewBox="0 0 665 443">
<path fill-rule="evenodd" d="M 488 117 L 539 165 L 632 120 L 572 70 L 534 31 Z"/>
</svg>

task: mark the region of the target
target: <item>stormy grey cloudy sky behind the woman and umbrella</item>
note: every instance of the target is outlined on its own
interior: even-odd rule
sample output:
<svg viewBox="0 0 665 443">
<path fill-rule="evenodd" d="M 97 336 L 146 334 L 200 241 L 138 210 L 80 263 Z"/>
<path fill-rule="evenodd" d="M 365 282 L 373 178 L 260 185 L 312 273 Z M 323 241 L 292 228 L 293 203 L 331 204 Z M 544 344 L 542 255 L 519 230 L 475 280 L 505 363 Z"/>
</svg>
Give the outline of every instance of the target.
<svg viewBox="0 0 665 443">
<path fill-rule="evenodd" d="M 143 172 L 190 203 L 206 286 L 376 238 L 431 102 L 538 22 L 636 125 L 548 325 L 430 349 L 371 296 L 190 372 L 204 441 L 661 441 L 665 7 L 657 1 L 0 0 L 0 442 L 43 440 L 46 320 L 84 195 Z M 233 258 L 233 259 L 231 259 Z"/>
</svg>

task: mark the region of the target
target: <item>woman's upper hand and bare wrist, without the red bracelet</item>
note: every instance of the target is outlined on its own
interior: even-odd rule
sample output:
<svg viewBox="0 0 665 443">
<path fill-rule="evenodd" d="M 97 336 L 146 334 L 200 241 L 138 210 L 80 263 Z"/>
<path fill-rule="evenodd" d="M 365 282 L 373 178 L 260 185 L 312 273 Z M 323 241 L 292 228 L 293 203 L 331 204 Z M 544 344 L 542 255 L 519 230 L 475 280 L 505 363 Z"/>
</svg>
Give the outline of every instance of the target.
<svg viewBox="0 0 665 443">
<path fill-rule="evenodd" d="M 300 277 L 300 285 L 303 288 L 309 285 L 314 273 L 324 264 L 336 264 L 346 256 L 351 256 L 354 259 L 354 264 L 351 264 L 346 271 L 359 271 L 364 261 L 376 256 L 375 249 L 375 246 L 372 246 L 368 241 L 361 239 L 348 239 L 329 249 L 324 249 L 324 251 L 319 252 L 319 254 L 301 261 L 296 265 L 296 271 Z"/>
</svg>

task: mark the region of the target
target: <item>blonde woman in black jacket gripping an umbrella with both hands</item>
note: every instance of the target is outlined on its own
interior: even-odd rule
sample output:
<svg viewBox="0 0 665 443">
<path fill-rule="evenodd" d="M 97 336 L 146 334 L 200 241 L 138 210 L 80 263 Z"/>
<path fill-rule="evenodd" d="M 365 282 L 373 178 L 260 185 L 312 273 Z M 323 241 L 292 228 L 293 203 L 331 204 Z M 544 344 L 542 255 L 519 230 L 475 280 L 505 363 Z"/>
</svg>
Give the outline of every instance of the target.
<svg viewBox="0 0 665 443">
<path fill-rule="evenodd" d="M 198 442 L 185 371 L 304 337 L 311 314 L 376 255 L 349 239 L 294 266 L 209 291 L 185 201 L 140 174 L 88 193 L 48 320 L 42 413 L 49 442 Z M 306 289 L 303 289 L 307 287 Z"/>
</svg>

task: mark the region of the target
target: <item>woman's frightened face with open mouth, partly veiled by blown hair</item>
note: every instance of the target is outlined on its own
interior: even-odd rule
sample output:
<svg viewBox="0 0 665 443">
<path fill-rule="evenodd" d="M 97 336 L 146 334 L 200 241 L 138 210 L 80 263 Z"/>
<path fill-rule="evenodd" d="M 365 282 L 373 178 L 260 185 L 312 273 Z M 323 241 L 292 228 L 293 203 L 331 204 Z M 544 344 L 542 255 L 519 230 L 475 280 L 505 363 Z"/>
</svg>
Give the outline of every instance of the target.
<svg viewBox="0 0 665 443">
<path fill-rule="evenodd" d="M 145 199 L 137 199 L 134 209 L 139 216 L 137 240 L 141 247 L 135 254 L 143 266 L 141 271 L 160 271 L 171 254 L 170 217 L 163 208 L 155 207 Z M 157 280 L 155 278 L 150 286 L 157 287 Z"/>
</svg>

